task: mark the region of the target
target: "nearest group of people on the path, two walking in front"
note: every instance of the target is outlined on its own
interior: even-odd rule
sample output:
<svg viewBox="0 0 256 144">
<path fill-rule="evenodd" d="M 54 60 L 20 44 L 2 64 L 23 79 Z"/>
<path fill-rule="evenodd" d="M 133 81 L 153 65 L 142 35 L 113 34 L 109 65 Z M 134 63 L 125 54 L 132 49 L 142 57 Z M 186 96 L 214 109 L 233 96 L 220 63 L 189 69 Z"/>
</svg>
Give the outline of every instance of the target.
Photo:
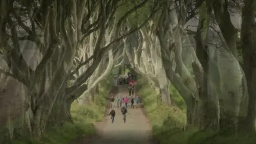
<svg viewBox="0 0 256 144">
<path fill-rule="evenodd" d="M 114 95 L 112 94 L 111 98 L 110 98 L 110 103 L 111 103 L 111 111 L 109 113 L 109 115 L 111 116 L 111 122 L 114 123 L 114 119 L 115 119 L 115 115 L 116 115 L 116 111 L 113 107 L 115 98 Z M 121 107 L 121 113 L 123 115 L 123 120 L 124 123 L 126 122 L 126 114 L 127 114 L 127 105 L 128 105 L 129 99 L 127 98 L 127 96 L 125 98 L 119 97 L 117 99 L 117 108 Z M 140 102 L 140 98 L 139 96 L 136 97 L 136 108 L 139 107 L 139 102 Z M 124 107 L 122 107 L 122 103 L 124 103 Z M 134 98 L 132 97 L 131 99 L 131 108 L 134 109 Z"/>
</svg>

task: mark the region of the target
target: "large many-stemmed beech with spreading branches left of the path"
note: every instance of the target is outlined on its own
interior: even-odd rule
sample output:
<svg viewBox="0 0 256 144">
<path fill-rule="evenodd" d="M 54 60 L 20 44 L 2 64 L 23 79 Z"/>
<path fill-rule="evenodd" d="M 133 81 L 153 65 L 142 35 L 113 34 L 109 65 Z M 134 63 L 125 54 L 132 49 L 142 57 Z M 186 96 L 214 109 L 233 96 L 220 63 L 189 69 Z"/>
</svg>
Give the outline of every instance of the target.
<svg viewBox="0 0 256 144">
<path fill-rule="evenodd" d="M 1 50 L 7 67 L 1 69 L 1 80 L 12 77 L 27 88 L 19 94 L 25 97 L 22 102 L 27 103 L 22 122 L 18 129 L 10 126 L 7 137 L 12 139 L 15 131 L 39 139 L 46 124 L 71 121 L 71 103 L 103 79 L 90 83 L 92 75 L 101 73 L 95 69 L 106 52 L 109 68 L 104 75 L 114 65 L 111 63 L 118 41 L 138 27 L 123 35 L 116 31 L 130 14 L 147 2 L 133 4 L 117 19 L 117 9 L 127 5 L 126 1 L 3 1 L 6 11 L 1 13 Z M 29 58 L 33 62 L 29 61 L 26 55 L 33 53 L 22 52 L 21 41 L 36 45 L 42 58 L 36 55 L 34 59 Z M 35 69 L 31 68 L 31 63 L 36 65 Z"/>
</svg>

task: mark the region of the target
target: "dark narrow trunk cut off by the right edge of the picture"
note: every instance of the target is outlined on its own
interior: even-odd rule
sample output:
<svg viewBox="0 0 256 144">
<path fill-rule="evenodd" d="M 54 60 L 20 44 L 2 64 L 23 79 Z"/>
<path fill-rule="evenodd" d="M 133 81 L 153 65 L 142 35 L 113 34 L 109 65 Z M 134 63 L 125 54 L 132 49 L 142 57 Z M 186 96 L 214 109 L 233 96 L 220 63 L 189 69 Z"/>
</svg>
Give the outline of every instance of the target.
<svg viewBox="0 0 256 144">
<path fill-rule="evenodd" d="M 247 111 L 247 117 L 244 123 L 244 131 L 255 131 L 255 119 L 256 119 L 256 55 L 255 55 L 255 1 L 245 1 L 242 13 L 242 50 L 243 50 L 243 62 L 244 73 L 247 81 L 248 93 L 249 93 L 249 105 Z"/>
</svg>

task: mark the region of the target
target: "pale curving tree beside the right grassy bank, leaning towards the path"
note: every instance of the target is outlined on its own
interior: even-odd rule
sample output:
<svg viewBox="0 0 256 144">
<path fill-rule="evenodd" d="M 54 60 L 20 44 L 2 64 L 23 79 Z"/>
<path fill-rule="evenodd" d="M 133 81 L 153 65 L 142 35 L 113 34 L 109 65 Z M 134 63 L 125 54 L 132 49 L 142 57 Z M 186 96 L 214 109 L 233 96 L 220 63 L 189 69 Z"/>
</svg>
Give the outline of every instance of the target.
<svg viewBox="0 0 256 144">
<path fill-rule="evenodd" d="M 165 7 L 163 7 L 157 23 L 156 34 L 161 45 L 166 75 L 187 104 L 187 125 L 190 125 L 199 123 L 196 120 L 198 115 L 194 114 L 198 101 L 196 82 L 182 59 L 183 25 L 186 23 L 186 10 L 189 11 L 190 9 L 188 2 L 177 2 L 179 3 L 179 14 L 174 9 L 174 2 L 165 2 Z M 195 9 L 201 4 L 201 2 L 197 2 Z M 183 6 L 188 6 L 188 9 Z M 168 9 L 171 10 L 168 11 Z M 175 65 L 173 65 L 174 62 Z"/>
</svg>

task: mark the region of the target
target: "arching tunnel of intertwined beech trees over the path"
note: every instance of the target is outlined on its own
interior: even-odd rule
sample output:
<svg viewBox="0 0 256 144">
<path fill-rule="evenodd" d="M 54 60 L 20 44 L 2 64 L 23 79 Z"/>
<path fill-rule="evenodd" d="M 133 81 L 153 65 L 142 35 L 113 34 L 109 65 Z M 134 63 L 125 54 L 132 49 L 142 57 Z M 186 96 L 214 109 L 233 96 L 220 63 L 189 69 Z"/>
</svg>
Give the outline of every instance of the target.
<svg viewBox="0 0 256 144">
<path fill-rule="evenodd" d="M 187 127 L 255 131 L 255 11 L 255 1 L 3 0 L 0 97 L 19 93 L 29 115 L 19 133 L 40 139 L 129 63 L 163 105 L 172 105 L 170 84 L 177 89 Z"/>
</svg>

